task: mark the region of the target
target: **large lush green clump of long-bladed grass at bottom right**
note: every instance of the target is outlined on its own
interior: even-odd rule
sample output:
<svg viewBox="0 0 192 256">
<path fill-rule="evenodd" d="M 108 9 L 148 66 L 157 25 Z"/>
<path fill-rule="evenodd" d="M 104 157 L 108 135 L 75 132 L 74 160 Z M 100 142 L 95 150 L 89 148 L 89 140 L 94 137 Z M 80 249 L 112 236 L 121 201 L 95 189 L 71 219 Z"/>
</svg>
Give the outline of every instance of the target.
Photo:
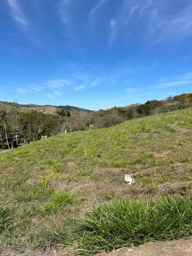
<svg viewBox="0 0 192 256">
<path fill-rule="evenodd" d="M 147 203 L 121 201 L 94 208 L 79 226 L 79 253 L 94 254 L 192 235 L 191 198 L 167 197 Z"/>
</svg>

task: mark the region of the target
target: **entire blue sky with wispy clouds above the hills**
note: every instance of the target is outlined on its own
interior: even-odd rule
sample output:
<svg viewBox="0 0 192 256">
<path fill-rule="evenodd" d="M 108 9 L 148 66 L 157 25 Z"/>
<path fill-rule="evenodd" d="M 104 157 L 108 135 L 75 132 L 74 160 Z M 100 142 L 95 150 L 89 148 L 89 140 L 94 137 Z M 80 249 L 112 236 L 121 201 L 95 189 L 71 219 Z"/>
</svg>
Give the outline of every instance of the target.
<svg viewBox="0 0 192 256">
<path fill-rule="evenodd" d="M 191 0 L 2 0 L 0 100 L 105 109 L 192 92 Z"/>
</svg>

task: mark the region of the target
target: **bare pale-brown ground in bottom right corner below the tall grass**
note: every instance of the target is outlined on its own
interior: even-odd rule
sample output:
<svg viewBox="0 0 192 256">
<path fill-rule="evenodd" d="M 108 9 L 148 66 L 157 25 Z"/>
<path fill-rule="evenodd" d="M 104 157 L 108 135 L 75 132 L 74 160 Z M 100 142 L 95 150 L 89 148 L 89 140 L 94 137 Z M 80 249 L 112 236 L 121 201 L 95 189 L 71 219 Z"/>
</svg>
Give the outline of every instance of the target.
<svg viewBox="0 0 192 256">
<path fill-rule="evenodd" d="M 97 256 L 191 256 L 192 239 L 146 243 L 139 247 L 121 249 L 110 253 L 99 253 Z"/>
</svg>

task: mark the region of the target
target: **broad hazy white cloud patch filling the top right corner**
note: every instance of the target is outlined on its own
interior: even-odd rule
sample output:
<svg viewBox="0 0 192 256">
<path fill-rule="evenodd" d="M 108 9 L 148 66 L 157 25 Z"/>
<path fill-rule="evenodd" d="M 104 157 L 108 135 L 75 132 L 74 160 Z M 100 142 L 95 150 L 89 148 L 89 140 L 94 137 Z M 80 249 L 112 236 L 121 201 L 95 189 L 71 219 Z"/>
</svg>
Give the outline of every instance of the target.
<svg viewBox="0 0 192 256">
<path fill-rule="evenodd" d="M 154 43 L 192 36 L 192 2 L 189 0 L 122 0 L 116 12 L 116 34 L 150 37 Z M 115 39 L 114 39 L 115 40 Z"/>
</svg>

